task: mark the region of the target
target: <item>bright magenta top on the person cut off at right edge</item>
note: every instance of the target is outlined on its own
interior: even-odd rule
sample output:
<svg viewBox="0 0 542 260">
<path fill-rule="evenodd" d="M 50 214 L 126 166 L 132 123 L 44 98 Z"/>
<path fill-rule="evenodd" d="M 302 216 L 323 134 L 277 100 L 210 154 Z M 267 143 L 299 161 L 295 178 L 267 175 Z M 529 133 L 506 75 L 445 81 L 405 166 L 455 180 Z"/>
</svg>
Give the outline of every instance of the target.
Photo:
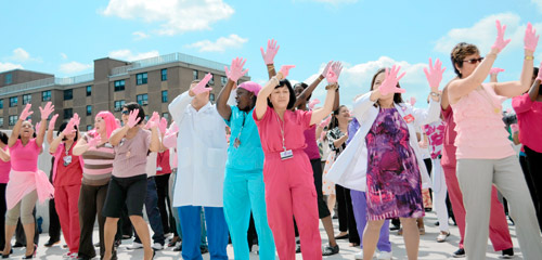
<svg viewBox="0 0 542 260">
<path fill-rule="evenodd" d="M 512 99 L 519 126 L 519 141 L 527 147 L 542 153 L 542 102 L 531 101 L 529 94 Z"/>
</svg>

